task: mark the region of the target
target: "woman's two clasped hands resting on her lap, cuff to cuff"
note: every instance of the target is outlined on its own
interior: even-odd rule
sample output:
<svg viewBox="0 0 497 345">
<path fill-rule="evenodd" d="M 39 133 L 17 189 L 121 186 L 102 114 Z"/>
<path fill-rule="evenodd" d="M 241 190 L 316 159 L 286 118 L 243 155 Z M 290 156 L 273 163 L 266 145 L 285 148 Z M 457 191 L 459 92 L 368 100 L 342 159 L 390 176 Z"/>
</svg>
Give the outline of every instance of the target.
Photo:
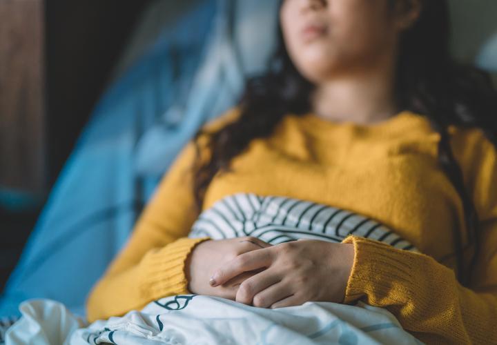
<svg viewBox="0 0 497 345">
<path fill-rule="evenodd" d="M 188 290 L 197 295 L 261 308 L 342 303 L 354 255 L 353 244 L 299 239 L 273 246 L 236 237 L 198 244 L 185 271 Z"/>
</svg>

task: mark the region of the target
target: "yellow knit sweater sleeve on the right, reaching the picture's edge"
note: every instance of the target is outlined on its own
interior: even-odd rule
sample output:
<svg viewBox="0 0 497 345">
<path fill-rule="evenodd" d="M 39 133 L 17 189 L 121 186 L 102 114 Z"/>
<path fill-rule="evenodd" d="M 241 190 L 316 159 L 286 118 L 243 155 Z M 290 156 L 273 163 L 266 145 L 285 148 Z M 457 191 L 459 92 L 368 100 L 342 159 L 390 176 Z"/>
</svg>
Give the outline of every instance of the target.
<svg viewBox="0 0 497 345">
<path fill-rule="evenodd" d="M 354 245 L 355 258 L 344 303 L 361 299 L 387 308 L 427 344 L 497 344 L 497 155 L 485 147 L 484 154 L 467 155 L 480 157 L 467 176 L 481 234 L 471 288 L 433 257 L 349 236 L 343 242 Z"/>
</svg>

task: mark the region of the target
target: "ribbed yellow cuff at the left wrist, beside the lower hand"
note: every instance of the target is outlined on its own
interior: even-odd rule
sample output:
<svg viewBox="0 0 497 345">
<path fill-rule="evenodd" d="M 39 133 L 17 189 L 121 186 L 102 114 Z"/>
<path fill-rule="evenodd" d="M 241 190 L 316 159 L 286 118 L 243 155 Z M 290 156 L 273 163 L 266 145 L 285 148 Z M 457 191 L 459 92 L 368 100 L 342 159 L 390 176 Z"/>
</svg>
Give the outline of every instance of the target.
<svg viewBox="0 0 497 345">
<path fill-rule="evenodd" d="M 190 294 L 185 262 L 193 248 L 208 239 L 211 237 L 182 237 L 147 253 L 142 261 L 142 297 L 151 300 L 169 295 Z"/>
</svg>

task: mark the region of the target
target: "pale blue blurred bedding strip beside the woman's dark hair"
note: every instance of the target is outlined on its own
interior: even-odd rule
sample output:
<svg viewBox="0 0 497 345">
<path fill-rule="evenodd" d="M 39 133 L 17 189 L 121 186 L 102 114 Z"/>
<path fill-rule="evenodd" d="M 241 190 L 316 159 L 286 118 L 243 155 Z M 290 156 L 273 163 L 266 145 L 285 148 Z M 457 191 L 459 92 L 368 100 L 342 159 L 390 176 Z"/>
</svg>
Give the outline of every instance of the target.
<svg viewBox="0 0 497 345">
<path fill-rule="evenodd" d="M 277 0 L 218 0 L 208 51 L 186 97 L 137 144 L 135 169 L 160 177 L 203 124 L 235 106 L 246 77 L 263 72 L 276 42 Z"/>
</svg>

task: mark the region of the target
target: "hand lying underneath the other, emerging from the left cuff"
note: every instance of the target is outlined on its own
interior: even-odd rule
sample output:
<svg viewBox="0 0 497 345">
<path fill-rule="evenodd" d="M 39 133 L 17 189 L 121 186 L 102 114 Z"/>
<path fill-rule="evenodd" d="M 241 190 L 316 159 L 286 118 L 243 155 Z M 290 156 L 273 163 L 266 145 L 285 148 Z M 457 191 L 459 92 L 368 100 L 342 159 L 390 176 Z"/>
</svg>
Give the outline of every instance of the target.
<svg viewBox="0 0 497 345">
<path fill-rule="evenodd" d="M 208 282 L 211 275 L 224 262 L 228 262 L 238 255 L 270 246 L 272 244 L 252 236 L 232 239 L 209 239 L 197 244 L 185 262 L 188 290 L 196 295 L 217 296 L 234 301 L 240 284 L 265 268 L 244 272 L 216 287 L 211 286 Z"/>
</svg>

